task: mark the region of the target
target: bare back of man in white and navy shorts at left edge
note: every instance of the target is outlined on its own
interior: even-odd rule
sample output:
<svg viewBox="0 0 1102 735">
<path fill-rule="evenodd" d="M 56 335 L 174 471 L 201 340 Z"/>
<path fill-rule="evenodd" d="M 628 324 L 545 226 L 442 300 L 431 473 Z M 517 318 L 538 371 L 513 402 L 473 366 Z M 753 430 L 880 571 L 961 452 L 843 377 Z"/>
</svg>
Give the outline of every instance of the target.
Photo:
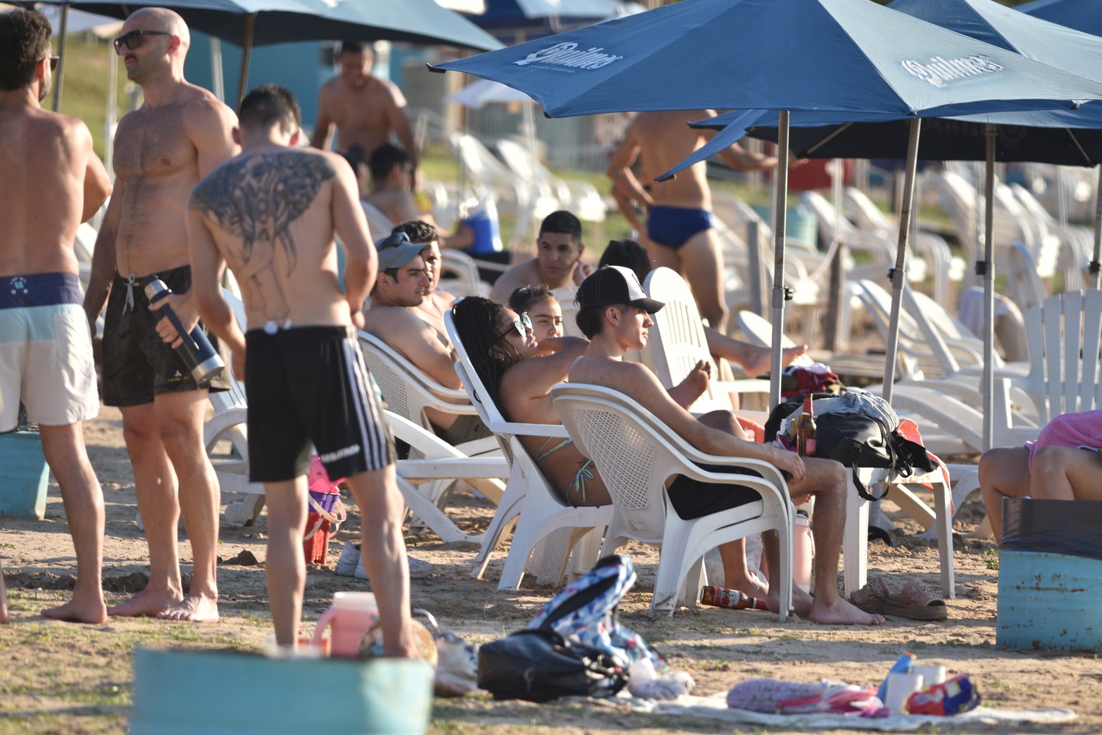
<svg viewBox="0 0 1102 735">
<path fill-rule="evenodd" d="M 0 106 L 0 275 L 76 273 L 77 227 L 110 191 L 88 128 L 37 107 Z"/>
</svg>

